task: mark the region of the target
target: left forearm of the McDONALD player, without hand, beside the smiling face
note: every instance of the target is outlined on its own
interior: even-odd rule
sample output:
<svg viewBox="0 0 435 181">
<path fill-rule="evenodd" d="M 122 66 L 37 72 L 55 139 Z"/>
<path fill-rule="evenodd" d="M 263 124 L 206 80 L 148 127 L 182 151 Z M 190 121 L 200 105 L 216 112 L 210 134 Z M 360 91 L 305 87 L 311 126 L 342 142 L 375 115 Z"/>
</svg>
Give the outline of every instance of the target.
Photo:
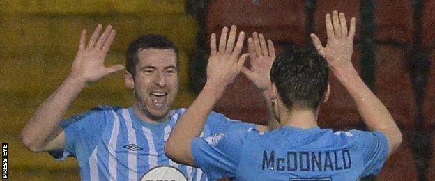
<svg viewBox="0 0 435 181">
<path fill-rule="evenodd" d="M 192 140 L 201 135 L 206 119 L 223 91 L 224 88 L 220 88 L 217 84 L 206 84 L 169 135 L 165 145 L 165 152 L 169 158 L 181 164 L 194 165 L 194 163 L 183 162 L 185 161 L 183 157 L 190 155 Z"/>
</svg>

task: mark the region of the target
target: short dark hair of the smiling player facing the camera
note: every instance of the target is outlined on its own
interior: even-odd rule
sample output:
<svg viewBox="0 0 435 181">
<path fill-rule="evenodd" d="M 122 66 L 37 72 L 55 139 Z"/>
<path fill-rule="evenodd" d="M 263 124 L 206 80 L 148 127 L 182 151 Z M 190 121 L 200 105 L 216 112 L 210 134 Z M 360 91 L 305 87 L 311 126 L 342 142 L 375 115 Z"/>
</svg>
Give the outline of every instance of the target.
<svg viewBox="0 0 435 181">
<path fill-rule="evenodd" d="M 150 34 L 141 36 L 128 45 L 125 58 L 125 67 L 133 76 L 136 74 L 136 65 L 139 61 L 139 56 L 137 56 L 137 54 L 140 50 L 147 48 L 174 49 L 176 54 L 176 68 L 179 68 L 180 63 L 178 61 L 178 48 L 174 45 L 174 43 L 165 36 Z"/>
</svg>

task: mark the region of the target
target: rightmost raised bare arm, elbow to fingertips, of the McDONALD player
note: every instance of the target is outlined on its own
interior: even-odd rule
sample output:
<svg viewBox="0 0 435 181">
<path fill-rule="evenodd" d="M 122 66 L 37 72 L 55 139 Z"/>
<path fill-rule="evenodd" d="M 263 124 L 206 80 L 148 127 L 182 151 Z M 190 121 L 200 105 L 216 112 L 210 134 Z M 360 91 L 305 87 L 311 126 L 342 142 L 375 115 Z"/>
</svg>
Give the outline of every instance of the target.
<svg viewBox="0 0 435 181">
<path fill-rule="evenodd" d="M 389 143 L 388 154 L 390 155 L 402 143 L 402 134 L 381 100 L 370 91 L 353 68 L 351 56 L 353 36 L 355 35 L 355 18 L 351 20 L 348 34 L 344 13 L 338 15 L 337 11 L 334 11 L 332 20 L 327 14 L 326 31 L 328 34 L 326 47 L 321 45 L 317 36 L 311 35 L 316 49 L 319 54 L 326 58 L 335 77 L 356 102 L 365 125 L 372 131 L 379 131 L 386 135 Z"/>
</svg>

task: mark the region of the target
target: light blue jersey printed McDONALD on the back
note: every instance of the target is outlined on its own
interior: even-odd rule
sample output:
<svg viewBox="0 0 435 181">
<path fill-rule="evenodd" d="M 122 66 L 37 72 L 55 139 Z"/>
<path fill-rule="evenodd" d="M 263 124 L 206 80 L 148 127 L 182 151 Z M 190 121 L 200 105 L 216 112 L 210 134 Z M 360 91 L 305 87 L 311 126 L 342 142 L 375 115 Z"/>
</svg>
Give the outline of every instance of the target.
<svg viewBox="0 0 435 181">
<path fill-rule="evenodd" d="M 229 129 L 194 139 L 192 155 L 211 180 L 359 180 L 379 173 L 388 141 L 381 132 L 319 127 Z"/>
</svg>

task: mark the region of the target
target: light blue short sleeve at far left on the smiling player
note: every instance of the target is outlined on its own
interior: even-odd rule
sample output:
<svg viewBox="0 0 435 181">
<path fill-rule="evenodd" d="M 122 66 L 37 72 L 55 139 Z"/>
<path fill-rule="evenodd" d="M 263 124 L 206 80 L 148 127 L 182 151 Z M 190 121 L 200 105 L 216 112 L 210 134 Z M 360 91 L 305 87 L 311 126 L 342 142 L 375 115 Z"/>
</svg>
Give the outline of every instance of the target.
<svg viewBox="0 0 435 181">
<path fill-rule="evenodd" d="M 109 107 L 96 107 L 63 120 L 61 127 L 65 133 L 65 146 L 63 150 L 50 151 L 49 154 L 54 159 L 63 160 L 68 156 L 77 157 L 79 152 L 91 152 L 104 131 L 108 109 Z"/>
</svg>

